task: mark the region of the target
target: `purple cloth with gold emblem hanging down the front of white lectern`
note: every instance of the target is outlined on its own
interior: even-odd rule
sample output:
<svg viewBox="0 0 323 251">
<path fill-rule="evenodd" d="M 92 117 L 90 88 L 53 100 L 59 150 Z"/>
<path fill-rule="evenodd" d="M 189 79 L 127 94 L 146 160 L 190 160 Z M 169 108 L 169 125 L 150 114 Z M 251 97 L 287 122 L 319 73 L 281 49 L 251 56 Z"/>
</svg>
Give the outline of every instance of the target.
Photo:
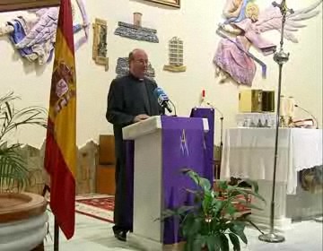
<svg viewBox="0 0 323 251">
<path fill-rule="evenodd" d="M 205 133 L 203 121 L 197 117 L 162 116 L 162 183 L 164 209 L 192 204 L 194 182 L 180 169 L 194 169 L 205 176 Z M 152 195 L 153 196 L 153 195 Z M 163 243 L 178 243 L 179 222 L 164 221 Z"/>
</svg>

